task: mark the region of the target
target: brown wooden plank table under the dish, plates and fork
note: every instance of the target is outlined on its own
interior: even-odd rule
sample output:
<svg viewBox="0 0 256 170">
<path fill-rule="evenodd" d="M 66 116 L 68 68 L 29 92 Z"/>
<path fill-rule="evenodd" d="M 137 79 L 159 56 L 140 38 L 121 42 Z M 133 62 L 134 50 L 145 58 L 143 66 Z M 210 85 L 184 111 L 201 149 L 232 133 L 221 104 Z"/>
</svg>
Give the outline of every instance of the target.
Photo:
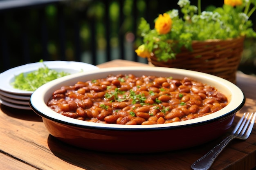
<svg viewBox="0 0 256 170">
<path fill-rule="evenodd" d="M 99 65 L 100 68 L 114 66 L 148 65 L 124 60 L 113 60 Z M 256 77 L 238 73 L 237 85 L 247 98 L 245 106 L 236 114 L 233 126 L 242 113 L 256 111 Z M 3 105 L 0 105 L 0 129 L 1 170 L 189 170 L 195 160 L 225 137 L 194 148 L 172 152 L 96 152 L 76 148 L 55 139 L 49 135 L 41 117 L 33 111 Z M 255 167 L 256 126 L 246 141 L 231 141 L 211 169 L 252 170 Z"/>
</svg>

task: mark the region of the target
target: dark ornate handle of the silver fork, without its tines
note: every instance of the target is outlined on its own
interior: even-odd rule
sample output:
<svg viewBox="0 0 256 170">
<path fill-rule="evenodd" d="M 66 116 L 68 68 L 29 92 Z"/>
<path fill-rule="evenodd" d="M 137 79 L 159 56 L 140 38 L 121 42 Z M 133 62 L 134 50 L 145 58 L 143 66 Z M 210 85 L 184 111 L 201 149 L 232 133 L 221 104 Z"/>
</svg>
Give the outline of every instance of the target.
<svg viewBox="0 0 256 170">
<path fill-rule="evenodd" d="M 212 148 L 207 154 L 205 154 L 203 157 L 195 161 L 195 163 L 191 165 L 191 168 L 193 170 L 208 170 L 213 164 L 213 161 L 216 159 L 216 157 L 218 157 L 220 152 L 234 138 L 235 138 L 234 135 L 229 135 L 228 137 L 223 139 L 223 141 L 221 141 L 220 144 Z"/>
</svg>

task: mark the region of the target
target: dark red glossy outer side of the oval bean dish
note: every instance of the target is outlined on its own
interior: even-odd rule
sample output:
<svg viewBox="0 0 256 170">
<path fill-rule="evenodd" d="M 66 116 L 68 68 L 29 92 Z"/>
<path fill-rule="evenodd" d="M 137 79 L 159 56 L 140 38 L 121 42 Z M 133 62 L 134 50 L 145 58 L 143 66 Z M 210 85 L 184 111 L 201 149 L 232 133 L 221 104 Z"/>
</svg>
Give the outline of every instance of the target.
<svg viewBox="0 0 256 170">
<path fill-rule="evenodd" d="M 106 152 L 162 152 L 204 144 L 223 135 L 235 113 L 206 124 L 161 130 L 104 130 L 80 128 L 46 119 L 50 134 L 59 140 L 89 150 Z"/>
</svg>

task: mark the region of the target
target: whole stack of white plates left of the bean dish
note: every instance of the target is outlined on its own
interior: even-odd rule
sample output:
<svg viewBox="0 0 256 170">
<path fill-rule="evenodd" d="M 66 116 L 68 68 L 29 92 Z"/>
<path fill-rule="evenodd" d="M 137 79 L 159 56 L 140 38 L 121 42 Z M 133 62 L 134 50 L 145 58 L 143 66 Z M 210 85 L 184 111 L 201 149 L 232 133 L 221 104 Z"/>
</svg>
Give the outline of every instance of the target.
<svg viewBox="0 0 256 170">
<path fill-rule="evenodd" d="M 29 98 L 33 91 L 23 91 L 13 88 L 11 83 L 14 82 L 16 75 L 36 71 L 38 68 L 43 67 L 43 64 L 58 72 L 64 71 L 70 74 L 99 69 L 92 64 L 69 61 L 37 62 L 11 68 L 0 74 L 0 103 L 12 108 L 31 110 Z"/>
</svg>

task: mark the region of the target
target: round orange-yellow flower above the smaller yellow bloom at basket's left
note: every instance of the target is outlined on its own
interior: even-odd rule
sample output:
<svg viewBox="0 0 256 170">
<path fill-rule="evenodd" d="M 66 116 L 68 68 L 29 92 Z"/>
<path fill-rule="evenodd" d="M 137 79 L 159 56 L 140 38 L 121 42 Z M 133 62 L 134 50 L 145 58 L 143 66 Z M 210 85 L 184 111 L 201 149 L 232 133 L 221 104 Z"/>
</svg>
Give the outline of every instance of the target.
<svg viewBox="0 0 256 170">
<path fill-rule="evenodd" d="M 171 31 L 172 22 L 170 15 L 167 13 L 160 14 L 155 21 L 155 29 L 160 34 L 166 34 Z"/>
</svg>

